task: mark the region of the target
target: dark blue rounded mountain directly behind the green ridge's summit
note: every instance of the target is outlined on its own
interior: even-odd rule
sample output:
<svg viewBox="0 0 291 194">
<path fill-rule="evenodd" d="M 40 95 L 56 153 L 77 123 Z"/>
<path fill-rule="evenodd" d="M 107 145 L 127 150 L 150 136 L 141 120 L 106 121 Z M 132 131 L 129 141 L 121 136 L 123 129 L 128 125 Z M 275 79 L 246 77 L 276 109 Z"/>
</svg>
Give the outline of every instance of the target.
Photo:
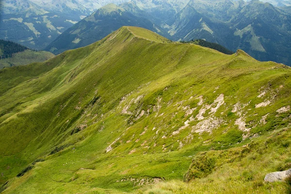
<svg viewBox="0 0 291 194">
<path fill-rule="evenodd" d="M 50 43 L 46 50 L 59 54 L 67 49 L 84 47 L 122 26 L 143 27 L 155 32 L 162 30 L 146 18 L 135 16 L 115 4 L 108 4 L 66 30 Z"/>
</svg>

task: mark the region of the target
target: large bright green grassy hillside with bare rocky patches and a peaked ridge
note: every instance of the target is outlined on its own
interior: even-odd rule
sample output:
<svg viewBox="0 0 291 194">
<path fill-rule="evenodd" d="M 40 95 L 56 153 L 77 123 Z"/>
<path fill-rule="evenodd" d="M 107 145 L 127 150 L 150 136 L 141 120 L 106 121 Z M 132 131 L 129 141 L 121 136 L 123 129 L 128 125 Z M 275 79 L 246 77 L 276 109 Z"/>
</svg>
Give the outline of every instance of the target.
<svg viewBox="0 0 291 194">
<path fill-rule="evenodd" d="M 1 69 L 0 191 L 286 193 L 263 178 L 291 167 L 290 85 L 286 65 L 137 27 Z"/>
</svg>

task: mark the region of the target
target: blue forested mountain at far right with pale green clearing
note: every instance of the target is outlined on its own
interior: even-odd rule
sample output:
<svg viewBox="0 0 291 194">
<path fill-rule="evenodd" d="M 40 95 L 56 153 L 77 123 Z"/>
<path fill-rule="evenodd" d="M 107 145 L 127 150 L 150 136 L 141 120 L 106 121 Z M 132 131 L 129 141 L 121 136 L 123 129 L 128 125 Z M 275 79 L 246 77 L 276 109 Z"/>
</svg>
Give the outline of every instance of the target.
<svg viewBox="0 0 291 194">
<path fill-rule="evenodd" d="M 290 15 L 269 3 L 253 0 L 230 22 L 236 26 L 234 35 L 240 37 L 239 48 L 259 60 L 291 65 Z"/>
</svg>

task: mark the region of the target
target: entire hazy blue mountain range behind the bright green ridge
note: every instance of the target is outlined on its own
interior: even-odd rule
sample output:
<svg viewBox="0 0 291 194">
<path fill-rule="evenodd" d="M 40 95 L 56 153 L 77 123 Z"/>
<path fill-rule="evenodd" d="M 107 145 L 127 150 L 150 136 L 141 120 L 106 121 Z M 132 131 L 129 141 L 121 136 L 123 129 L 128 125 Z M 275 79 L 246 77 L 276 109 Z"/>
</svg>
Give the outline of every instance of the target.
<svg viewBox="0 0 291 194">
<path fill-rule="evenodd" d="M 3 15 L 0 38 L 59 54 L 92 44 L 121 26 L 138 26 L 174 41 L 204 39 L 232 51 L 243 49 L 261 61 L 291 65 L 291 0 L 32 1 L 25 1 L 29 8 L 21 8 L 26 10 L 21 16 Z M 85 17 L 108 2 L 122 3 Z M 34 15 L 28 14 L 31 10 Z"/>
</svg>

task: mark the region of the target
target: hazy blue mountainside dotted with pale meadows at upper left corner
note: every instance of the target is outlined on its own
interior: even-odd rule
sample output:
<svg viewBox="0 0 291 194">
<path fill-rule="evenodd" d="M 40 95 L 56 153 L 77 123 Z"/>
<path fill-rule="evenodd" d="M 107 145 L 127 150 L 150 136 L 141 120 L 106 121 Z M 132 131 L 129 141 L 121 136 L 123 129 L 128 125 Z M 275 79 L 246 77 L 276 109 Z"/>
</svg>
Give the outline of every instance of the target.
<svg viewBox="0 0 291 194">
<path fill-rule="evenodd" d="M 51 12 L 29 0 L 4 0 L 0 38 L 31 49 L 44 49 L 85 13 Z M 86 16 L 86 15 L 85 15 Z"/>
</svg>

